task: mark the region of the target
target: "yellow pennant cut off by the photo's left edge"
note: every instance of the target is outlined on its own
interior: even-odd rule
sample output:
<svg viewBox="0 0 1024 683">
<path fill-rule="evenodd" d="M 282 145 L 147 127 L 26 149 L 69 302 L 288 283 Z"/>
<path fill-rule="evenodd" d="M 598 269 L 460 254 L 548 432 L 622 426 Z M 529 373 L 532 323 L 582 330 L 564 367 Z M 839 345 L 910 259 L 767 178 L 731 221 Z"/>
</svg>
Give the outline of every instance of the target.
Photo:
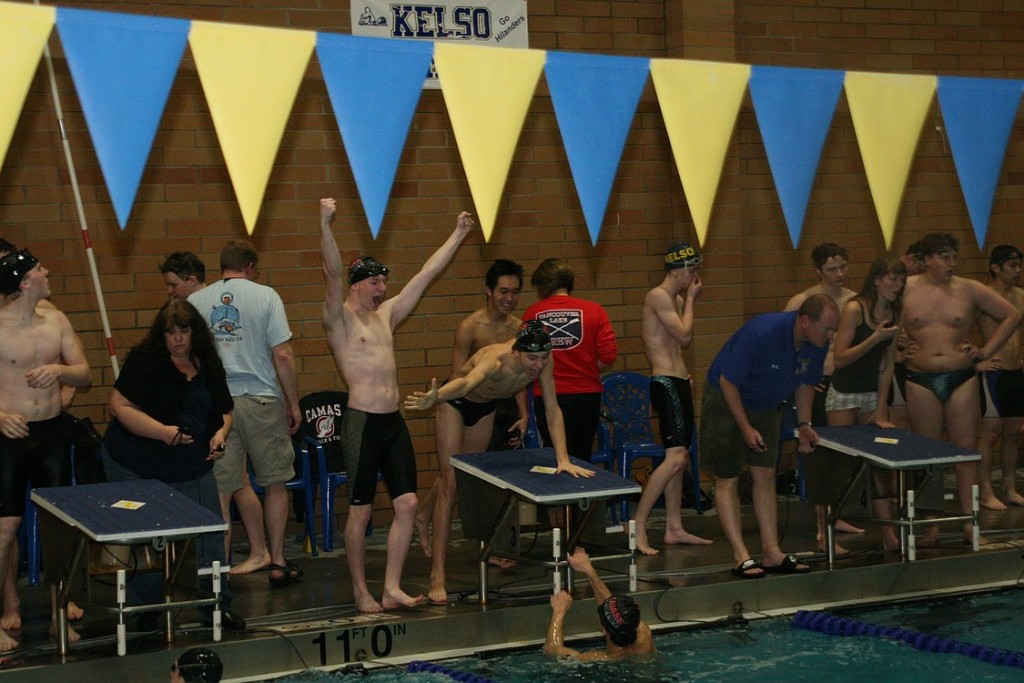
<svg viewBox="0 0 1024 683">
<path fill-rule="evenodd" d="M 56 13 L 54 7 L 0 2 L 0 166 Z"/>
</svg>

